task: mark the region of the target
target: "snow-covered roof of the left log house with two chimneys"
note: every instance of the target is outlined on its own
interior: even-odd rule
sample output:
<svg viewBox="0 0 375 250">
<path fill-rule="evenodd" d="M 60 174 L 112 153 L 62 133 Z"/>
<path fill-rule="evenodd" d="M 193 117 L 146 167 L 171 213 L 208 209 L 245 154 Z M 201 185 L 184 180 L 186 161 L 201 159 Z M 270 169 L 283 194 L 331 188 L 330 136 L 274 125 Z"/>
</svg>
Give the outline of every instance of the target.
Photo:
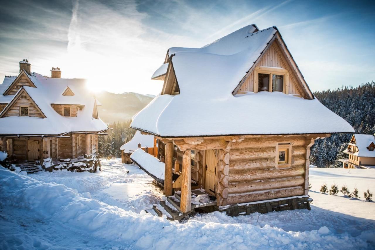
<svg viewBox="0 0 375 250">
<path fill-rule="evenodd" d="M 85 79 L 48 78 L 37 73 L 33 73 L 29 78 L 33 81 L 36 88 L 23 86 L 23 89 L 42 110 L 46 118 L 29 116 L 0 118 L 1 134 L 55 135 L 78 131 L 98 132 L 107 129 L 107 125 L 101 119 L 92 117 L 95 98 L 86 88 Z M 5 77 L 1 85 L 9 86 L 12 82 L 9 79 L 15 80 L 15 77 Z M 75 93 L 74 96 L 62 95 L 68 85 Z M 0 103 L 2 99 L 10 98 L 10 96 L 13 99 L 17 95 L 4 96 L 2 94 L 7 87 L 0 87 L 0 89 Z M 81 111 L 77 111 L 77 117 L 64 117 L 58 114 L 51 107 L 51 104 L 79 104 L 84 105 L 84 108 Z"/>
</svg>

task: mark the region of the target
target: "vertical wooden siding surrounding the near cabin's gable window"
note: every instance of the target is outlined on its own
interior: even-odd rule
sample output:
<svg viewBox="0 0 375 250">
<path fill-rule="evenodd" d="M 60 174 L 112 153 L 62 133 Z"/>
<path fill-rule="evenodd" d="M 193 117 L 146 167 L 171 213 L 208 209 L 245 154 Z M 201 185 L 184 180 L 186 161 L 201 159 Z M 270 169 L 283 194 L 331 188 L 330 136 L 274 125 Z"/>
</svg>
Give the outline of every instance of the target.
<svg viewBox="0 0 375 250">
<path fill-rule="evenodd" d="M 289 67 L 287 63 L 285 63 L 285 59 L 283 60 L 283 55 L 278 52 L 279 47 L 276 42 L 273 42 L 273 44 L 269 47 L 269 49 L 264 53 L 263 57 L 260 59 L 260 61 L 254 66 L 269 66 L 269 67 L 278 67 L 287 69 L 289 72 L 289 79 L 285 79 L 284 81 L 287 81 L 287 92 L 290 94 L 297 94 L 301 95 L 300 91 L 297 88 L 297 83 L 295 80 L 295 77 L 293 75 L 295 74 L 293 70 Z M 251 72 L 251 74 L 246 78 L 246 80 L 242 83 L 242 86 L 240 86 L 238 92 L 254 92 L 254 71 Z"/>
</svg>

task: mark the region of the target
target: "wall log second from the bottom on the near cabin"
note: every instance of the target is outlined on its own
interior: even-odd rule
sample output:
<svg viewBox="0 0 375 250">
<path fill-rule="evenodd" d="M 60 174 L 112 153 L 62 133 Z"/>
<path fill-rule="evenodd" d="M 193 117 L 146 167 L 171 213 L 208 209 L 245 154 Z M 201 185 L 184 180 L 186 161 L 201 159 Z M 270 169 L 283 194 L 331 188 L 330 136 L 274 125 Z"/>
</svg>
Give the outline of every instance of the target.
<svg viewBox="0 0 375 250">
<path fill-rule="evenodd" d="M 244 193 L 256 190 L 275 189 L 302 186 L 305 183 L 305 176 L 292 176 L 286 178 L 271 178 L 252 181 L 229 182 L 229 193 Z"/>
</svg>

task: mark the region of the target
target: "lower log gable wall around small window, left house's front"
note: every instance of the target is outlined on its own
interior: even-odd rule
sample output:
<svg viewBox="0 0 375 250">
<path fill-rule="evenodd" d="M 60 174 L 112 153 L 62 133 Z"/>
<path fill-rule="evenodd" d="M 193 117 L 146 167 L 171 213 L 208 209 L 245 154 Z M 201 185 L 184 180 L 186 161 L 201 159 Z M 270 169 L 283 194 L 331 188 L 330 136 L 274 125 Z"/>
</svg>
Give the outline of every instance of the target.
<svg viewBox="0 0 375 250">
<path fill-rule="evenodd" d="M 21 116 L 21 108 L 27 107 L 28 116 L 45 118 L 45 114 L 30 97 L 24 88 L 12 99 L 12 101 L 0 113 L 0 118 L 7 116 Z"/>
</svg>

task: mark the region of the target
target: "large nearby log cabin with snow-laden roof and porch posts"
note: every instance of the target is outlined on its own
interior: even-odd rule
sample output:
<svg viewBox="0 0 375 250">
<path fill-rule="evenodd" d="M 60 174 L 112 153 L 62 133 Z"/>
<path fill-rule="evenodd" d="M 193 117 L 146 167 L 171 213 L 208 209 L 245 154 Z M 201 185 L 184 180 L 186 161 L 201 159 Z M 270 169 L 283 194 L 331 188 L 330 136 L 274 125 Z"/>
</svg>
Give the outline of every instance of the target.
<svg viewBox="0 0 375 250">
<path fill-rule="evenodd" d="M 309 208 L 314 140 L 354 131 L 314 97 L 276 27 L 169 48 L 152 78 L 162 91 L 131 127 L 158 139 L 164 193 L 183 213 L 192 186 L 231 215 Z"/>
</svg>

